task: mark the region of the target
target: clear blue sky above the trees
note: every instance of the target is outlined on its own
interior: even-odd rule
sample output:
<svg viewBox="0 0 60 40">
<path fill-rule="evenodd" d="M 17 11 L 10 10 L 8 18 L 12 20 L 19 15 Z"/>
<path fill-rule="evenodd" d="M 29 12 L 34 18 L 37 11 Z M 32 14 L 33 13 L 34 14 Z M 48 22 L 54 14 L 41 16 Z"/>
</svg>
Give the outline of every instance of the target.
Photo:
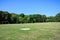
<svg viewBox="0 0 60 40">
<path fill-rule="evenodd" d="M 60 0 L 0 0 L 0 10 L 25 15 L 54 16 L 60 12 Z"/>
</svg>

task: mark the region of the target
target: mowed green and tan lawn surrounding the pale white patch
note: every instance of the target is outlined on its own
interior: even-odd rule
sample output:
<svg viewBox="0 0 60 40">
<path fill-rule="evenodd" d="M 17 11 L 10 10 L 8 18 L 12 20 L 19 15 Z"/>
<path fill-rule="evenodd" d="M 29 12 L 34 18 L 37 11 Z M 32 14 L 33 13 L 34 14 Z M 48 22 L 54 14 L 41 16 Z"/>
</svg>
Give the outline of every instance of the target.
<svg viewBox="0 0 60 40">
<path fill-rule="evenodd" d="M 60 40 L 60 23 L 0 24 L 0 40 Z"/>
</svg>

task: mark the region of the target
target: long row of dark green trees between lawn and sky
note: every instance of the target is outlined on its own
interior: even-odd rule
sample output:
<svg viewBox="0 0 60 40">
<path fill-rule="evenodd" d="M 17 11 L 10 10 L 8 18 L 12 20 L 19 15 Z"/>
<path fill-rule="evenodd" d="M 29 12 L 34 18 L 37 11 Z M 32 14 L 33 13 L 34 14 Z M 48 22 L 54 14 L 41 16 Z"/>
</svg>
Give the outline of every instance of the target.
<svg viewBox="0 0 60 40">
<path fill-rule="evenodd" d="M 15 14 L 7 11 L 0 11 L 0 24 L 7 23 L 40 23 L 40 22 L 60 22 L 60 12 L 55 16 L 32 14 L 25 15 L 24 13 Z"/>
</svg>

